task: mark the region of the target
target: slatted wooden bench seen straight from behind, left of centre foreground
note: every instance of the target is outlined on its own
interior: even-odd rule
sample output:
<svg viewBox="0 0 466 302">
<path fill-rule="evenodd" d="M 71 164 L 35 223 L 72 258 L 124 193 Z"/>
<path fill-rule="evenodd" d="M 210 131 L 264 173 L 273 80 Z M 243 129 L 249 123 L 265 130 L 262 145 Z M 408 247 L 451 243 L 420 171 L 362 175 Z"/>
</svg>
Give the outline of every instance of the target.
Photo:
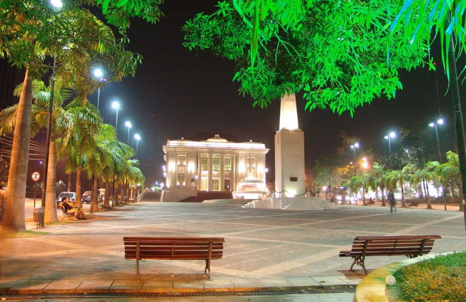
<svg viewBox="0 0 466 302">
<path fill-rule="evenodd" d="M 210 260 L 221 259 L 224 238 L 211 237 L 124 237 L 125 259 L 136 259 L 139 280 L 139 260 L 205 260 L 204 273 L 210 279 Z"/>
</svg>

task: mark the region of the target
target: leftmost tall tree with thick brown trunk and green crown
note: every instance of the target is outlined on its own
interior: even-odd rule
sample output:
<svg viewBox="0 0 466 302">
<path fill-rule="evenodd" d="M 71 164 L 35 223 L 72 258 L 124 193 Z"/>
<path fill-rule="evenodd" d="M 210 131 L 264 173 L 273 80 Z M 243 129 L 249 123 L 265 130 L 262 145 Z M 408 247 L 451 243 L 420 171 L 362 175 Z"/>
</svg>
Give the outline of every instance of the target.
<svg viewBox="0 0 466 302">
<path fill-rule="evenodd" d="M 81 99 L 85 99 L 89 87 L 90 90 L 97 88 L 97 84 L 88 79 L 91 65 L 100 62 L 109 71 L 107 81 L 119 81 L 134 75 L 136 65 L 141 62 L 139 55 L 125 51 L 108 27 L 78 5 L 69 4 L 66 9 L 56 12 L 47 2 L 31 1 L 24 5 L 23 1 L 12 1 L 8 7 L 2 8 L 0 52 L 17 68 L 26 69 L 15 122 L 7 192 L 9 202 L 3 230 L 18 232 L 26 229 L 24 199 L 31 133 L 32 78 L 41 77 L 48 69 L 43 64 L 45 56 L 55 57 L 58 63 L 54 68 L 56 74 L 66 76 L 65 81 L 74 84 Z M 130 15 L 134 14 L 138 13 Z M 128 25 L 128 19 L 121 21 Z"/>
</svg>

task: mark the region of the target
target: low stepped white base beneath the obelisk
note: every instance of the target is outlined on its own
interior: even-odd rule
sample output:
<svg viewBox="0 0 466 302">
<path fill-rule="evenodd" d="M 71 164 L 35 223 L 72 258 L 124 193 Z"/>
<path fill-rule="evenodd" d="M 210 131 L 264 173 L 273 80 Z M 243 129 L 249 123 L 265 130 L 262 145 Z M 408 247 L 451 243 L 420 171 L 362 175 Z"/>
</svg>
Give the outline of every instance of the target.
<svg viewBox="0 0 466 302">
<path fill-rule="evenodd" d="M 278 209 L 293 211 L 322 211 L 336 209 L 335 203 L 330 203 L 320 198 L 288 198 L 273 197 L 269 199 L 253 200 L 244 206 L 245 209 Z"/>
</svg>

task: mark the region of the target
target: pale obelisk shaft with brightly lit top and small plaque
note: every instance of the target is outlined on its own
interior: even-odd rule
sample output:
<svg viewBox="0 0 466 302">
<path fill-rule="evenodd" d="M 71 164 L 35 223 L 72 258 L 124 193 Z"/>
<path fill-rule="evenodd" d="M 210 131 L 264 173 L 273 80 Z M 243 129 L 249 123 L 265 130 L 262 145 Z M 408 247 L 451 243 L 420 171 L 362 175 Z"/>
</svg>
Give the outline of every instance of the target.
<svg viewBox="0 0 466 302">
<path fill-rule="evenodd" d="M 275 133 L 275 197 L 305 193 L 304 132 L 298 126 L 294 94 L 285 94 L 280 104 L 280 128 Z"/>
</svg>

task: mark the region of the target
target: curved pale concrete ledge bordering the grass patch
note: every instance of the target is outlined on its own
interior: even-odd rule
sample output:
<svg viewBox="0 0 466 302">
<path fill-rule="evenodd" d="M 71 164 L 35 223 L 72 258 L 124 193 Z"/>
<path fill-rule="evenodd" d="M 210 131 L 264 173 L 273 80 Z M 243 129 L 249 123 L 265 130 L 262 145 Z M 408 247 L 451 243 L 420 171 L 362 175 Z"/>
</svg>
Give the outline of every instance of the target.
<svg viewBox="0 0 466 302">
<path fill-rule="evenodd" d="M 448 254 L 448 253 L 446 253 Z M 442 254 L 429 254 L 425 256 L 420 256 L 416 258 L 410 258 L 403 261 L 394 262 L 382 267 L 377 268 L 376 270 L 369 273 L 364 277 L 358 286 L 356 286 L 355 297 L 353 298 L 354 302 L 388 302 L 387 295 L 385 293 L 386 286 L 389 286 L 385 283 L 385 278 L 389 275 L 394 274 L 397 270 L 423 261 L 426 259 L 434 258 L 437 255 Z"/>
</svg>

